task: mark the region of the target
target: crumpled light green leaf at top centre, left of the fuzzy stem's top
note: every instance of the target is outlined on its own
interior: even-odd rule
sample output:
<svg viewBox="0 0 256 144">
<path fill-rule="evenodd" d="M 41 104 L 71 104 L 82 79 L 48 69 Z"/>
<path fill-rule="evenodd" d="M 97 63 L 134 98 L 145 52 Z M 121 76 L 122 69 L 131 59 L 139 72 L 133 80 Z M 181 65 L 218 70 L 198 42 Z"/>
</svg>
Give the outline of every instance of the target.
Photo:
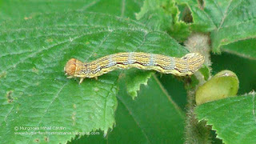
<svg viewBox="0 0 256 144">
<path fill-rule="evenodd" d="M 179 14 L 173 0 L 146 0 L 136 18 L 153 30 L 167 31 L 178 41 L 184 41 L 190 35 L 190 30 L 185 22 L 179 20 Z"/>
</svg>

